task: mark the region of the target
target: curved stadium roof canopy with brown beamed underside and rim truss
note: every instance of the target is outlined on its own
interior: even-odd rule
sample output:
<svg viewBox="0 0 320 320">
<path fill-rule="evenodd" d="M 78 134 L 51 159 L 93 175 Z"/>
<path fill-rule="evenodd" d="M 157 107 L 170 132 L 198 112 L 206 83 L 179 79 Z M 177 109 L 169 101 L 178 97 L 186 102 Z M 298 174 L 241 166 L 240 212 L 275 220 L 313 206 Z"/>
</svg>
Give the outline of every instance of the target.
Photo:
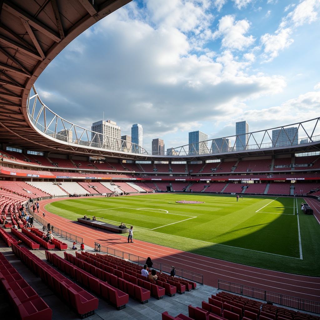
<svg viewBox="0 0 320 320">
<path fill-rule="evenodd" d="M 320 118 L 278 128 L 280 131 L 290 126 L 298 128 L 294 138 L 288 136 L 289 143 L 274 143 L 272 130 L 276 128 L 272 128 L 248 134 L 241 150 L 236 150 L 234 144 L 228 152 L 220 148 L 221 139 L 232 140 L 232 137 L 208 140 L 202 143 L 204 149 L 201 152 L 197 145 L 186 145 L 174 148 L 172 155 L 165 156 L 150 155 L 142 148 L 136 152 L 132 149 L 124 152 L 128 149 L 124 150 L 123 141 L 109 143 L 112 146 L 109 148 L 105 148 L 105 141 L 93 145 L 91 132 L 70 124 L 44 106 L 33 84 L 50 61 L 76 36 L 130 1 L 0 1 L 0 143 L 47 153 L 157 161 L 211 160 L 320 150 Z M 58 122 L 62 123 L 64 130 L 71 128 L 76 133 L 71 142 L 57 137 L 58 130 L 61 130 Z M 237 139 L 240 138 L 234 140 Z"/>
</svg>

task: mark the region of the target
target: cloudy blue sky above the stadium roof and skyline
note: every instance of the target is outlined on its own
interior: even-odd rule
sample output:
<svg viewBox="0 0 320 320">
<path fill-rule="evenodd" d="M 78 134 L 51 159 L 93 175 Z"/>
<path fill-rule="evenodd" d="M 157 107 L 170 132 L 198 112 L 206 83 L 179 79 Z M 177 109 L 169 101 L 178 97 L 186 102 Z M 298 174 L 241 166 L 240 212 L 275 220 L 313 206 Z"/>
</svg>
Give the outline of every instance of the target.
<svg viewBox="0 0 320 320">
<path fill-rule="evenodd" d="M 320 115 L 320 0 L 132 1 L 70 43 L 36 81 L 70 122 L 143 126 L 143 147 Z"/>
</svg>

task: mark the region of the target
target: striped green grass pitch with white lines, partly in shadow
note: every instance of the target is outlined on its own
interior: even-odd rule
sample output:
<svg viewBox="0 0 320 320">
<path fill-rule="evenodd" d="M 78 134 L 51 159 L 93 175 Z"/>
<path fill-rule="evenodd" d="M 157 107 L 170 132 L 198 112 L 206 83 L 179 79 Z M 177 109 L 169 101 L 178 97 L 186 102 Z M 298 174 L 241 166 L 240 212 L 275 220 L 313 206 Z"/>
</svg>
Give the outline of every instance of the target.
<svg viewBox="0 0 320 320">
<path fill-rule="evenodd" d="M 178 204 L 176 201 L 203 201 Z M 134 238 L 259 268 L 320 276 L 320 226 L 301 198 L 149 194 L 62 200 L 46 209 L 76 220 L 134 226 Z M 297 215 L 299 213 L 299 215 Z M 125 241 L 125 237 L 124 237 Z"/>
</svg>

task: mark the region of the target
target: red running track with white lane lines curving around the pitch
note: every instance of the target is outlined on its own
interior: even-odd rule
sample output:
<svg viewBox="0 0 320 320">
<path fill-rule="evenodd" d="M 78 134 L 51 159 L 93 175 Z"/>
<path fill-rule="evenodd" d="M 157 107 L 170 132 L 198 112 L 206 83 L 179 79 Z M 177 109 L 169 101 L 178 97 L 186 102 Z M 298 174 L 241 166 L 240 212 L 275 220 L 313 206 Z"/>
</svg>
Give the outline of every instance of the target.
<svg viewBox="0 0 320 320">
<path fill-rule="evenodd" d="M 65 200 L 59 199 L 59 200 Z M 128 244 L 127 237 L 119 234 L 99 231 L 86 227 L 78 222 L 61 218 L 44 210 L 44 205 L 57 199 L 42 200 L 40 214 L 45 212 L 45 220 L 57 228 L 84 238 L 84 243 L 94 247 L 94 242 L 140 257 L 151 257 L 152 260 L 203 274 L 204 284 L 218 287 L 218 279 L 243 284 L 254 288 L 282 293 L 285 295 L 320 302 L 320 278 L 299 276 L 272 270 L 259 269 L 223 260 L 204 257 L 157 244 L 134 239 Z M 314 208 L 315 216 L 320 221 L 320 204 L 308 198 Z M 320 223 L 320 222 L 319 222 Z"/>
</svg>

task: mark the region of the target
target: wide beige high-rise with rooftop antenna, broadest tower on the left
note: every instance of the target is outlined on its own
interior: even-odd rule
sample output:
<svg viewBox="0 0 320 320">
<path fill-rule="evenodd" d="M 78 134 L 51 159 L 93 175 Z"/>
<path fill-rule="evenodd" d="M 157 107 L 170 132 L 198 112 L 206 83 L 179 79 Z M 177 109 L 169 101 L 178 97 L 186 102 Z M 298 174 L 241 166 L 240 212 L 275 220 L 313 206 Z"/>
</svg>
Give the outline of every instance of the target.
<svg viewBox="0 0 320 320">
<path fill-rule="evenodd" d="M 91 127 L 92 147 L 119 150 L 121 128 L 111 120 L 94 122 Z"/>
</svg>

